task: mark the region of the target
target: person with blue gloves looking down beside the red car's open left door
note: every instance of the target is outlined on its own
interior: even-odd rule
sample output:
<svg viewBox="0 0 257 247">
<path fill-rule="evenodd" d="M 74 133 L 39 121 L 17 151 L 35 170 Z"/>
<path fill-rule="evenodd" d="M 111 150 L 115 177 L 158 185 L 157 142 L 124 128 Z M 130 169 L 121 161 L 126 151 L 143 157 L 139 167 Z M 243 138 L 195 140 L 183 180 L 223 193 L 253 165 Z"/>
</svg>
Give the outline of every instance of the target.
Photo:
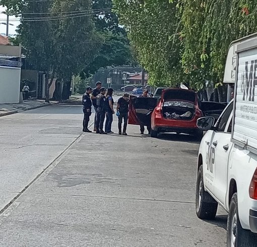
<svg viewBox="0 0 257 247">
<path fill-rule="evenodd" d="M 120 97 L 117 102 L 117 116 L 118 116 L 118 130 L 121 135 L 122 119 L 124 119 L 122 135 L 126 134 L 126 126 L 129 112 L 129 93 L 124 93 L 123 97 Z"/>
</svg>

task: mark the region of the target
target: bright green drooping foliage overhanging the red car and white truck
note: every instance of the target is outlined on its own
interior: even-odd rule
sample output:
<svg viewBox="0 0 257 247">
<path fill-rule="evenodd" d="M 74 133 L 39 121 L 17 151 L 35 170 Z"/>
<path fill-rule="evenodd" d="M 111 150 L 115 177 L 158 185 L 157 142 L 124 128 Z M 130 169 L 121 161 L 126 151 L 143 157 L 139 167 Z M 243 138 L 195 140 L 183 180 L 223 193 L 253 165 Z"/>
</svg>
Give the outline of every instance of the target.
<svg viewBox="0 0 257 247">
<path fill-rule="evenodd" d="M 255 32 L 254 0 L 113 0 L 155 85 L 221 85 L 232 40 Z"/>
</svg>

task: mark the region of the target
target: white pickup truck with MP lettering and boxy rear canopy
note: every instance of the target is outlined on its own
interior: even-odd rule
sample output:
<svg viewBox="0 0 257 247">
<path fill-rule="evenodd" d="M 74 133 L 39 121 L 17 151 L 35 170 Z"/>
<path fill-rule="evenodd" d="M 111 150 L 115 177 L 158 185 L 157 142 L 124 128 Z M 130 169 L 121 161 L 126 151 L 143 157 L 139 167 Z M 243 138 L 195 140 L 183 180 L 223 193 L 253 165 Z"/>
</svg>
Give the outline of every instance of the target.
<svg viewBox="0 0 257 247">
<path fill-rule="evenodd" d="M 231 49 L 236 54 L 234 100 L 216 123 L 212 117 L 198 120 L 198 127 L 208 131 L 199 150 L 196 213 L 201 219 L 214 219 L 221 205 L 228 212 L 227 246 L 253 247 L 257 246 L 257 34 L 236 40 Z"/>
</svg>

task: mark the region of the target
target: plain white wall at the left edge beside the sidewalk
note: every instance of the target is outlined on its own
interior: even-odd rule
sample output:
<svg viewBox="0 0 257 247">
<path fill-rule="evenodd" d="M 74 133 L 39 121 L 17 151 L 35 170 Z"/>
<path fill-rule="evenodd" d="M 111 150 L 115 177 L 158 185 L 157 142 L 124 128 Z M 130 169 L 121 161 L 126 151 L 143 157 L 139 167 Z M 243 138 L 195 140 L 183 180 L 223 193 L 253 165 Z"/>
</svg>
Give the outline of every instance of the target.
<svg viewBox="0 0 257 247">
<path fill-rule="evenodd" d="M 0 66 L 0 104 L 19 103 L 21 68 Z"/>
</svg>

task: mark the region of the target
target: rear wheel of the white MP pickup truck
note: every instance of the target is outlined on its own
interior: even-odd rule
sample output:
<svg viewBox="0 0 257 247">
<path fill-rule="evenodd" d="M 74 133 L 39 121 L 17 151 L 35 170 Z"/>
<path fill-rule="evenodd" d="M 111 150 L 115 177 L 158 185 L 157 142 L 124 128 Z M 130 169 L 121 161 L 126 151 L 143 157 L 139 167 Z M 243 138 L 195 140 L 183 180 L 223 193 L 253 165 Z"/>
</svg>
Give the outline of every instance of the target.
<svg viewBox="0 0 257 247">
<path fill-rule="evenodd" d="M 230 202 L 227 222 L 227 247 L 254 247 L 257 235 L 242 228 L 238 217 L 237 193 Z"/>
</svg>

